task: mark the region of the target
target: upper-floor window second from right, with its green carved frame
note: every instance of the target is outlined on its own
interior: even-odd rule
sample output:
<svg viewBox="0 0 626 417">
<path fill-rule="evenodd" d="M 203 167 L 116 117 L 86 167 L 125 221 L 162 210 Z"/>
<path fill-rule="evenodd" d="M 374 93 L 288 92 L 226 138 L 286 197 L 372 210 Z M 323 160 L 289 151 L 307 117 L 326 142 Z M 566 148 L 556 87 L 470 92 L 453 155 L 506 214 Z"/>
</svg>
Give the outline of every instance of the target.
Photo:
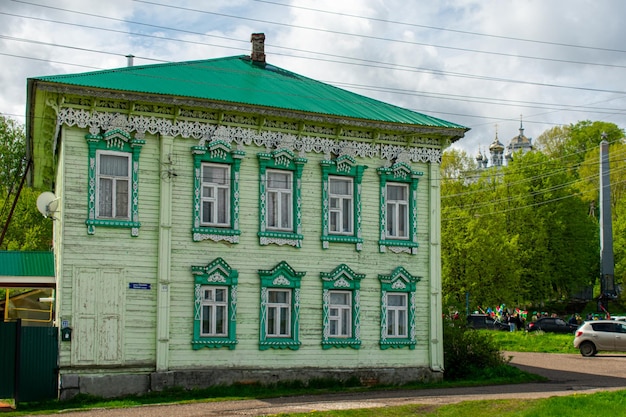
<svg viewBox="0 0 626 417">
<path fill-rule="evenodd" d="M 361 181 L 365 165 L 342 155 L 322 166 L 322 247 L 331 242 L 354 243 L 363 248 L 361 235 Z"/>
</svg>

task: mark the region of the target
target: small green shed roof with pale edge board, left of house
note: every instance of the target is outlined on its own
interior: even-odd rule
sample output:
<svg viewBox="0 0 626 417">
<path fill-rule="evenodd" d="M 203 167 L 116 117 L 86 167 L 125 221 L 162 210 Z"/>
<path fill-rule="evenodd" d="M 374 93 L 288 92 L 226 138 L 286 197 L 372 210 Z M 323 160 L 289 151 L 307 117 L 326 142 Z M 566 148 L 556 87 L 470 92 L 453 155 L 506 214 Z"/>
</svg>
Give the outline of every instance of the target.
<svg viewBox="0 0 626 417">
<path fill-rule="evenodd" d="M 0 251 L 0 287 L 54 285 L 54 253 Z"/>
</svg>

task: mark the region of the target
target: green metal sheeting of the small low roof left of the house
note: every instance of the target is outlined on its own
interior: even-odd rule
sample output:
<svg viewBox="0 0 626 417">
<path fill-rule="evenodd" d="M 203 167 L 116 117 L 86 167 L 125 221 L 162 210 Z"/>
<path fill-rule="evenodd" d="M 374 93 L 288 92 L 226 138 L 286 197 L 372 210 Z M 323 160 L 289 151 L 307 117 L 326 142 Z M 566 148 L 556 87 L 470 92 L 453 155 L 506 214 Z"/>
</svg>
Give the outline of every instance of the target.
<svg viewBox="0 0 626 417">
<path fill-rule="evenodd" d="M 54 253 L 0 251 L 0 277 L 54 277 Z"/>
</svg>

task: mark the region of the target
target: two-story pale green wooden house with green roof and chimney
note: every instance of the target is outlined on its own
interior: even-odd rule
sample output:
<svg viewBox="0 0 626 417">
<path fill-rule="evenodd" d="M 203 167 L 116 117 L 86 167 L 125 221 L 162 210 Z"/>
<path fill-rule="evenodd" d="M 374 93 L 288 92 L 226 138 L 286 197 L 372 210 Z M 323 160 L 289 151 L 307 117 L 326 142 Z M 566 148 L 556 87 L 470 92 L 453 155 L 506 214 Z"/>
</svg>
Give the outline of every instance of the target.
<svg viewBox="0 0 626 417">
<path fill-rule="evenodd" d="M 441 378 L 443 149 L 467 128 L 250 56 L 28 80 L 61 397 Z"/>
</svg>

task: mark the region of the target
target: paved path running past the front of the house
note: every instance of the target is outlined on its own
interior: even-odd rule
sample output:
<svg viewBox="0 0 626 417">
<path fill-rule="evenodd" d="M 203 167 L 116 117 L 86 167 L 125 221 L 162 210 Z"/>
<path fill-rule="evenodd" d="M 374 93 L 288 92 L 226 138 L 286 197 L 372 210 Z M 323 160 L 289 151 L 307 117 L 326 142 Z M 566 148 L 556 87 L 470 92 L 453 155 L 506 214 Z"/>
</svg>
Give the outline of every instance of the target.
<svg viewBox="0 0 626 417">
<path fill-rule="evenodd" d="M 461 401 L 546 398 L 597 391 L 626 389 L 626 355 L 581 355 L 507 352 L 520 369 L 548 378 L 546 382 L 486 387 L 397 390 L 365 393 L 338 393 L 223 401 L 198 404 L 142 406 L 127 409 L 66 412 L 63 417 L 152 417 L 152 416 L 267 416 L 288 412 L 385 407 L 403 404 L 451 404 Z"/>
</svg>

